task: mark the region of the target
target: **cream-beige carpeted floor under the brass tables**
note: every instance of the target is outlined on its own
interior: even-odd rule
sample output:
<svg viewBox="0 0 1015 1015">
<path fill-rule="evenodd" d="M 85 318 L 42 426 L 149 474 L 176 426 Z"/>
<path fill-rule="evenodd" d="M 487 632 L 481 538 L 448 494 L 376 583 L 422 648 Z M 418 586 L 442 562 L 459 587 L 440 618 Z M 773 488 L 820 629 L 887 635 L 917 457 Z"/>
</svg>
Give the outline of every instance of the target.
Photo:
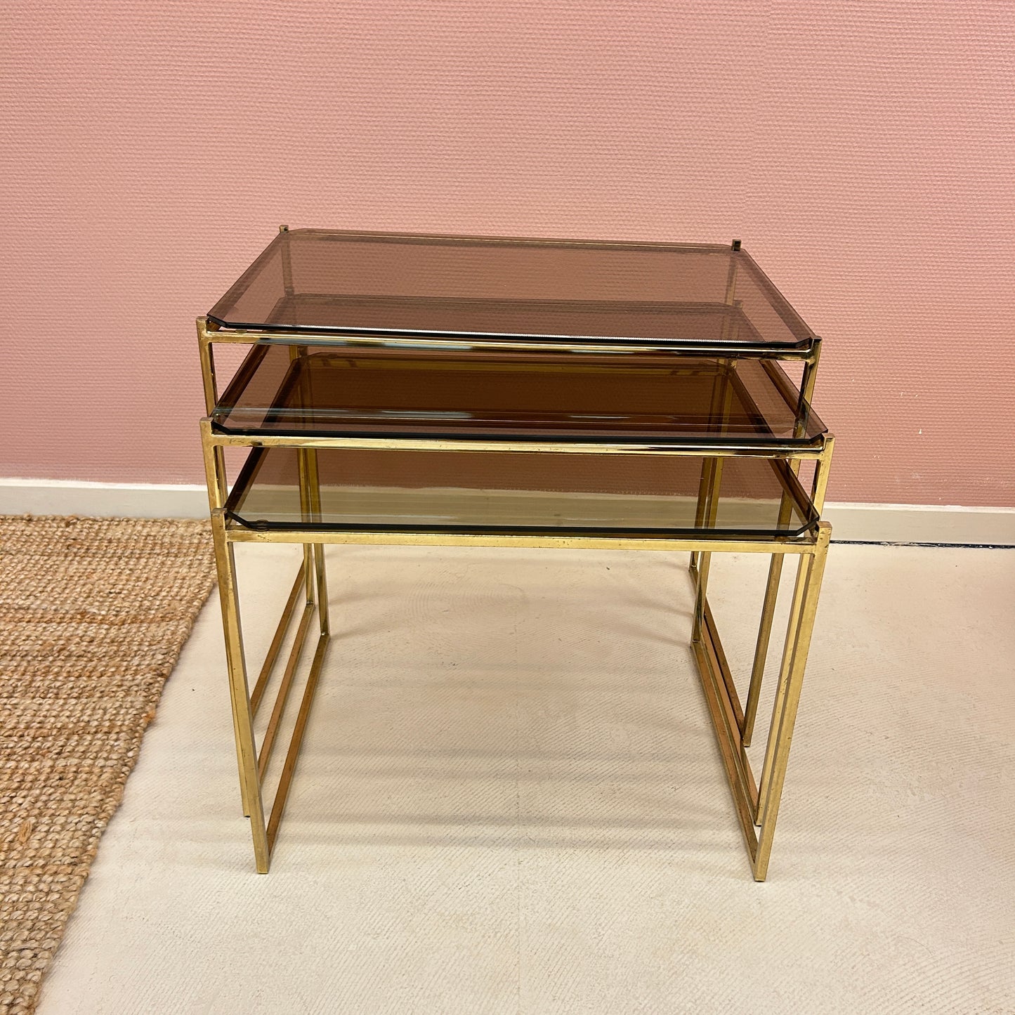
<svg viewBox="0 0 1015 1015">
<path fill-rule="evenodd" d="M 236 552 L 256 666 L 298 549 Z M 683 554 L 328 559 L 334 639 L 271 873 L 212 593 L 39 1015 L 1015 1012 L 1015 550 L 832 547 L 764 884 Z M 713 560 L 741 676 L 766 564 Z"/>
</svg>

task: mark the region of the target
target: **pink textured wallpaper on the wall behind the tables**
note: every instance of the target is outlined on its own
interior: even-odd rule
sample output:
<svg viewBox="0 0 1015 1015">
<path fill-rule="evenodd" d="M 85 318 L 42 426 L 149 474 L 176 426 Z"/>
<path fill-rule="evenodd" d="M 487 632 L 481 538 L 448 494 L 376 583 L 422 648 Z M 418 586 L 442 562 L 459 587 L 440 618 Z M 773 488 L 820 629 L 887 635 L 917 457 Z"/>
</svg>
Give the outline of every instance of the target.
<svg viewBox="0 0 1015 1015">
<path fill-rule="evenodd" d="M 6 0 L 0 38 L 0 475 L 200 482 L 193 320 L 287 222 L 740 238 L 825 338 L 831 497 L 1015 504 L 1010 0 Z"/>
</svg>

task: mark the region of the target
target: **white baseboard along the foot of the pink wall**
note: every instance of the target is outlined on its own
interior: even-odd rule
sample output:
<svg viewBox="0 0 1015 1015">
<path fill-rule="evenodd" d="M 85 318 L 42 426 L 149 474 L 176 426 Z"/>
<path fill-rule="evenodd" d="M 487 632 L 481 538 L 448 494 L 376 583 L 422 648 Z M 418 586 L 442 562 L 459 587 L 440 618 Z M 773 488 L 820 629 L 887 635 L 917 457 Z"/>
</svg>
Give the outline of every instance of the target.
<svg viewBox="0 0 1015 1015">
<path fill-rule="evenodd" d="M 207 518 L 208 495 L 197 484 L 0 478 L 0 515 Z M 1015 507 L 829 502 L 825 518 L 833 542 L 1015 546 Z"/>
</svg>

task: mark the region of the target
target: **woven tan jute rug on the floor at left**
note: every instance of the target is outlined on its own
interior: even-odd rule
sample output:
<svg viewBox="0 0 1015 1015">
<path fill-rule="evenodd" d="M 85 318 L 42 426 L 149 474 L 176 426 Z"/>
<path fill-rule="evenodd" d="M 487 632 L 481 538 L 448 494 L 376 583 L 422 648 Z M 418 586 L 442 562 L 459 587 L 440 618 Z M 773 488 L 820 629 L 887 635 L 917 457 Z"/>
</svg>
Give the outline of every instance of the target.
<svg viewBox="0 0 1015 1015">
<path fill-rule="evenodd" d="M 0 1012 L 39 987 L 212 588 L 201 522 L 0 517 Z"/>
</svg>

